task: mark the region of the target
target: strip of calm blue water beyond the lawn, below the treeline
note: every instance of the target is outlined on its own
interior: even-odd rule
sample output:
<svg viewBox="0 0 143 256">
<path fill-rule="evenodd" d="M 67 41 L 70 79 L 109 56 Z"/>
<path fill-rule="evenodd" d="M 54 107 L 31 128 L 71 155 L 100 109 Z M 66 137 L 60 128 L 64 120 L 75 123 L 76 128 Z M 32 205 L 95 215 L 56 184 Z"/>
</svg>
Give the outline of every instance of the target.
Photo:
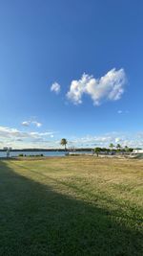
<svg viewBox="0 0 143 256">
<path fill-rule="evenodd" d="M 10 151 L 10 157 L 18 156 L 19 154 L 26 156 L 43 154 L 44 156 L 65 156 L 65 151 Z M 91 153 L 90 151 L 76 151 L 76 153 Z M 0 157 L 6 157 L 6 151 L 0 151 Z"/>
</svg>

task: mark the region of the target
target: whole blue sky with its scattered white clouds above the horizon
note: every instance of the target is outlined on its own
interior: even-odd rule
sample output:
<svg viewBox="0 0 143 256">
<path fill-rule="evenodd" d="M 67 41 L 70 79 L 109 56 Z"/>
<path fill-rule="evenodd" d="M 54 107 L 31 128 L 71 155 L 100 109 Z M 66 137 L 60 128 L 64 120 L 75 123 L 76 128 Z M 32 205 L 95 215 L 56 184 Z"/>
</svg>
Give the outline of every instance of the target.
<svg viewBox="0 0 143 256">
<path fill-rule="evenodd" d="M 143 2 L 0 1 L 0 148 L 143 147 Z"/>
</svg>

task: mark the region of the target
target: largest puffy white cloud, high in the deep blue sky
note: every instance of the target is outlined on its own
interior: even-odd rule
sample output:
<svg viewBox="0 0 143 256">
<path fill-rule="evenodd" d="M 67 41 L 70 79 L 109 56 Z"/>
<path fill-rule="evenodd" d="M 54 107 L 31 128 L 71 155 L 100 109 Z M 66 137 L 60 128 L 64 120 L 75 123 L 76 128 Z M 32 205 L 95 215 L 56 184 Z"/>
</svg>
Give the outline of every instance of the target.
<svg viewBox="0 0 143 256">
<path fill-rule="evenodd" d="M 82 104 L 84 94 L 91 96 L 94 105 L 101 105 L 104 101 L 117 101 L 124 93 L 126 81 L 123 68 L 113 68 L 100 79 L 83 74 L 80 80 L 72 81 L 67 97 L 75 105 Z"/>
</svg>

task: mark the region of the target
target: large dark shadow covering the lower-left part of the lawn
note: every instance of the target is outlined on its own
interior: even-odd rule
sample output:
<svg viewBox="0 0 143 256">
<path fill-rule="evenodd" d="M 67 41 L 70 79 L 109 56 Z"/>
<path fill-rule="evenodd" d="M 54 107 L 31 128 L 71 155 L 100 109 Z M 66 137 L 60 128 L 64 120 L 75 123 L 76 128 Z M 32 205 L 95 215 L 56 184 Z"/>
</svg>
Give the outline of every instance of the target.
<svg viewBox="0 0 143 256">
<path fill-rule="evenodd" d="M 107 209 L 57 193 L 0 161 L 0 255 L 143 255 L 141 239 Z"/>
</svg>

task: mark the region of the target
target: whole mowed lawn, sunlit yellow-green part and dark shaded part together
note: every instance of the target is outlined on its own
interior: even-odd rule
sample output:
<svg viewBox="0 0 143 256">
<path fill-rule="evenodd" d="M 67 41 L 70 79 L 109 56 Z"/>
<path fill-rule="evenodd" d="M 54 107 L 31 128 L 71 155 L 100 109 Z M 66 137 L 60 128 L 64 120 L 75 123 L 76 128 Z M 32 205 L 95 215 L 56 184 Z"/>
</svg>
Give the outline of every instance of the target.
<svg viewBox="0 0 143 256">
<path fill-rule="evenodd" d="M 143 255 L 143 161 L 0 161 L 0 256 Z"/>
</svg>

